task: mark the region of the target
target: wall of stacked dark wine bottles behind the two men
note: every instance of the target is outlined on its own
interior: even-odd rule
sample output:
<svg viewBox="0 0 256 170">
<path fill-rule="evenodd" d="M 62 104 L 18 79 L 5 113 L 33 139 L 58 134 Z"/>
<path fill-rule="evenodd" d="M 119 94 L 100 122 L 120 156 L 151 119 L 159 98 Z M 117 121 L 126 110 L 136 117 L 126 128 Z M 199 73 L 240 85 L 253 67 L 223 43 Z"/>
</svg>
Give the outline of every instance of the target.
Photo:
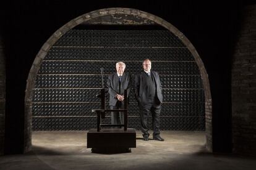
<svg viewBox="0 0 256 170">
<path fill-rule="evenodd" d="M 100 108 L 96 94 L 116 62 L 126 63 L 132 75 L 142 61 L 161 79 L 161 130 L 205 130 L 205 96 L 197 63 L 189 49 L 168 30 L 70 30 L 46 55 L 33 89 L 34 131 L 88 130 L 96 127 L 92 109 Z M 140 129 L 140 114 L 133 87 L 128 106 L 128 127 Z M 108 107 L 108 95 L 106 107 Z M 150 124 L 151 124 L 151 119 Z M 106 123 L 111 115 L 106 115 Z M 149 126 L 151 127 L 151 125 Z"/>
</svg>

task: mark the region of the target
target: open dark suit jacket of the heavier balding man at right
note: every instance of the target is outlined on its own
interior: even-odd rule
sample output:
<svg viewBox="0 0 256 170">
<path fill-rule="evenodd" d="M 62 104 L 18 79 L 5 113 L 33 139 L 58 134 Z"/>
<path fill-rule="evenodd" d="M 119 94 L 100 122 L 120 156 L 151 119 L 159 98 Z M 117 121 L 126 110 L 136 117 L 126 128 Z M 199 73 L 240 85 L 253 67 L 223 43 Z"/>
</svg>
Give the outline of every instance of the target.
<svg viewBox="0 0 256 170">
<path fill-rule="evenodd" d="M 158 97 L 158 100 L 163 103 L 163 95 L 162 95 L 162 89 L 161 89 L 161 82 L 160 77 L 156 71 L 150 71 L 151 76 L 155 79 L 156 83 L 156 95 Z M 139 104 L 145 105 L 147 103 L 147 94 L 145 92 L 145 87 L 147 86 L 147 81 L 143 78 L 143 74 L 145 74 L 145 71 L 140 72 L 139 74 L 135 75 L 134 80 L 134 93 L 135 93 L 135 99 L 139 102 Z"/>
</svg>

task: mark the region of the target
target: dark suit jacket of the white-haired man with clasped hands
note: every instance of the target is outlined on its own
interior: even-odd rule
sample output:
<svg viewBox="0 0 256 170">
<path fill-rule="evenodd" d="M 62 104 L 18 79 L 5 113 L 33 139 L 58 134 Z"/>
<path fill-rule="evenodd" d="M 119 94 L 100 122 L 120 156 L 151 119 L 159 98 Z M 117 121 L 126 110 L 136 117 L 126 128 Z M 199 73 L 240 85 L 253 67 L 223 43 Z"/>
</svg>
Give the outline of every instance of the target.
<svg viewBox="0 0 256 170">
<path fill-rule="evenodd" d="M 117 102 L 116 95 L 119 94 L 119 79 L 117 73 L 113 73 L 108 76 L 108 93 L 109 93 L 109 105 L 115 106 Z M 127 89 L 127 96 L 130 93 L 130 75 L 129 73 L 124 72 L 122 74 L 121 81 L 121 95 L 124 95 L 124 90 Z"/>
</svg>

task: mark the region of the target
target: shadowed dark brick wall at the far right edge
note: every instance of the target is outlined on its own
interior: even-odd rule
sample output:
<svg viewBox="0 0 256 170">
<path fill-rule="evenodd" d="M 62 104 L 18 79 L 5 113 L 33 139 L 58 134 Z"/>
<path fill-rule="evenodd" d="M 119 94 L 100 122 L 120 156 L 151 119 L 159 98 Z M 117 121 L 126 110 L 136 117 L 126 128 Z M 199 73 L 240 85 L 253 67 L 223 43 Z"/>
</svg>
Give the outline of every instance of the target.
<svg viewBox="0 0 256 170">
<path fill-rule="evenodd" d="M 256 156 L 256 5 L 242 10 L 232 70 L 233 152 Z"/>
</svg>

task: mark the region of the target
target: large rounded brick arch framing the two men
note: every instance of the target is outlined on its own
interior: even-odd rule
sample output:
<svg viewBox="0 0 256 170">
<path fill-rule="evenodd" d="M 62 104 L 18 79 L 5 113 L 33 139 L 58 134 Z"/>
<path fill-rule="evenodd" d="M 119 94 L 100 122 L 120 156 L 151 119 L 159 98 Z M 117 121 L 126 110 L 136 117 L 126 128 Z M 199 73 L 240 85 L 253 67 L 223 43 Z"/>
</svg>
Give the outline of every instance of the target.
<svg viewBox="0 0 256 170">
<path fill-rule="evenodd" d="M 118 15 L 122 16 L 121 19 L 111 20 L 109 17 L 104 18 L 105 16 Z M 128 17 L 127 17 L 128 16 Z M 115 17 L 116 18 L 116 17 Z M 88 12 L 87 14 L 80 15 L 70 22 L 66 23 L 64 26 L 59 28 L 41 47 L 40 51 L 35 57 L 32 68 L 28 74 L 27 78 L 27 86 L 25 91 L 25 122 L 24 122 L 24 152 L 28 152 L 32 147 L 32 99 L 33 99 L 33 88 L 35 87 L 35 79 L 40 69 L 40 65 L 45 59 L 46 54 L 48 54 L 49 49 L 54 45 L 62 35 L 67 33 L 67 31 L 71 30 L 77 25 L 82 23 L 95 23 L 95 24 L 115 24 L 115 25 L 143 25 L 143 24 L 151 24 L 156 23 L 160 26 L 163 26 L 167 30 L 171 31 L 175 34 L 181 41 L 187 46 L 191 54 L 194 56 L 195 62 L 198 65 L 200 70 L 200 74 L 202 76 L 203 87 L 205 89 L 205 130 L 207 137 L 207 149 L 212 151 L 212 124 L 211 124 L 211 92 L 210 92 L 210 84 L 207 75 L 207 71 L 203 65 L 200 56 L 198 55 L 195 47 L 189 41 L 189 39 L 181 33 L 181 31 L 177 30 L 177 28 L 171 23 L 166 22 L 160 17 L 157 17 L 153 14 L 149 14 L 147 12 L 143 12 L 137 9 L 129 9 L 129 8 L 107 8 L 107 9 L 99 9 L 94 10 L 92 12 Z"/>
</svg>

